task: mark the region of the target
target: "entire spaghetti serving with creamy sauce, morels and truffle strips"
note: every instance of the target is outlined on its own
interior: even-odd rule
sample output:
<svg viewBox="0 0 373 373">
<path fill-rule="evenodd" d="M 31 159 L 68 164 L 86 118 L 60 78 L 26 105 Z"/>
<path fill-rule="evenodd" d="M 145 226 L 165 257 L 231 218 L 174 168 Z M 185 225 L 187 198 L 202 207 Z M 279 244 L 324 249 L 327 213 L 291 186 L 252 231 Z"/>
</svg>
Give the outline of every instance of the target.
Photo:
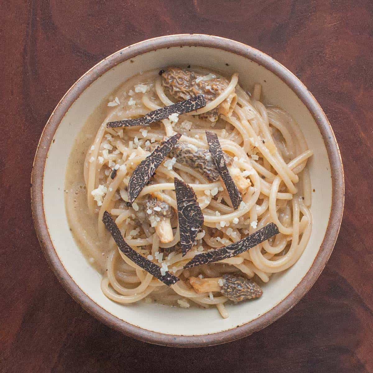
<svg viewBox="0 0 373 373">
<path fill-rule="evenodd" d="M 70 154 L 65 203 L 107 298 L 227 318 L 227 304 L 256 302 L 301 257 L 313 151 L 289 113 L 261 102 L 260 84 L 168 66 L 128 79 L 100 108 L 105 119 L 88 120 Z"/>
</svg>

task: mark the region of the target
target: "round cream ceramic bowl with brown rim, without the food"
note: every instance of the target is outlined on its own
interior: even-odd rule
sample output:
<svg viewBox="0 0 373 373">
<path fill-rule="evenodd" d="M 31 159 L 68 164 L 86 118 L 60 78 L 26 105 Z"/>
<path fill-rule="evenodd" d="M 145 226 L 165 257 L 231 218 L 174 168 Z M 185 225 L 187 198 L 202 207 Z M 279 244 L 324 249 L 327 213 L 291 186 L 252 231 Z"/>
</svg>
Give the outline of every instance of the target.
<svg viewBox="0 0 373 373">
<path fill-rule="evenodd" d="M 264 103 L 289 112 L 308 147 L 313 193 L 313 229 L 301 258 L 275 274 L 255 302 L 182 309 L 158 304 L 116 304 L 100 289 L 100 275 L 87 263 L 65 213 L 65 169 L 76 135 L 104 97 L 141 71 L 178 64 L 201 65 L 231 75 L 243 87 L 260 83 Z M 126 335 L 160 345 L 194 347 L 232 341 L 274 322 L 311 288 L 335 244 L 344 205 L 338 144 L 323 110 L 307 88 L 279 62 L 245 44 L 209 35 L 170 35 L 123 48 L 85 73 L 65 94 L 40 138 L 32 171 L 32 213 L 44 254 L 69 294 L 94 317 Z"/>
</svg>

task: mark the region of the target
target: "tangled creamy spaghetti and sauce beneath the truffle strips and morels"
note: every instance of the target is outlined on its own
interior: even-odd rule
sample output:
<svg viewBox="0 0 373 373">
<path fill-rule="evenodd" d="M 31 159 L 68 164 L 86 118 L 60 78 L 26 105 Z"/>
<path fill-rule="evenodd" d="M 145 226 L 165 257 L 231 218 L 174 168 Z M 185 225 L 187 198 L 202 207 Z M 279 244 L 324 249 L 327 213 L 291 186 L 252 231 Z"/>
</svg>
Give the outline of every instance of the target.
<svg viewBox="0 0 373 373">
<path fill-rule="evenodd" d="M 205 69 L 198 69 L 198 72 L 209 73 Z M 140 82 L 147 86 L 146 92 L 142 92 L 143 87 L 135 90 Z M 92 133 L 95 131 L 93 141 L 85 138 L 84 142 L 81 136 L 80 142 L 76 143 L 75 152 L 79 154 L 72 154 L 68 170 L 69 174 L 74 169 L 76 180 L 73 182 L 74 178 L 67 174 L 66 210 L 74 236 L 90 263 L 103 274 L 101 289 L 111 300 L 126 304 L 145 298 L 146 302 L 180 307 L 189 307 L 192 303 L 204 308 L 215 306 L 225 318 L 228 311 L 224 304 L 228 298 L 220 292 L 198 294 L 189 285 L 188 278 L 221 277 L 225 273 L 240 272 L 247 278 L 256 276 L 262 282 L 268 282 L 272 273 L 288 269 L 303 253 L 312 226 L 307 169 L 312 151 L 308 150 L 301 130 L 288 113 L 260 102 L 259 84 L 254 86 L 250 97 L 239 87 L 237 74 L 233 74 L 228 82 L 218 97 L 197 110 L 197 114 L 201 114 L 215 109 L 235 90 L 237 104 L 233 112 L 220 115 L 216 123 L 200 119 L 193 112 L 180 115 L 177 123 L 164 119 L 141 128 L 106 128 L 109 121 L 140 117 L 175 102 L 164 89 L 158 70 L 134 76 L 110 97 L 112 106 L 107 107 L 105 119 L 98 129 L 91 129 Z M 172 167 L 163 163 L 154 175 L 154 182 L 145 186 L 135 204 L 128 207 L 129 178 L 135 167 L 150 154 L 151 144 L 180 132 L 180 141 L 208 149 L 205 129 L 217 133 L 223 151 L 233 158 L 244 178 L 250 180 L 250 186 L 242 192 L 244 204 L 234 210 L 221 179 L 209 181 L 197 168 L 176 160 Z M 82 158 L 84 146 L 88 149 L 84 169 L 76 170 L 75 161 Z M 117 173 L 111 179 L 113 168 L 117 168 Z M 180 240 L 177 220 L 176 223 L 173 220 L 172 241 L 162 243 L 154 226 L 144 219 L 139 220 L 135 210 L 148 195 L 176 209 L 175 177 L 194 189 L 204 214 L 197 245 L 185 257 L 175 251 L 167 254 L 167 249 Z M 98 206 L 92 192 L 100 186 L 105 191 Z M 154 263 L 166 263 L 168 270 L 181 280 L 168 288 L 121 253 L 101 221 L 105 210 L 115 218 L 132 248 L 145 257 L 150 256 Z M 237 257 L 183 270 L 184 264 L 202 250 L 229 245 L 270 222 L 274 222 L 280 231 L 274 238 Z"/>
</svg>

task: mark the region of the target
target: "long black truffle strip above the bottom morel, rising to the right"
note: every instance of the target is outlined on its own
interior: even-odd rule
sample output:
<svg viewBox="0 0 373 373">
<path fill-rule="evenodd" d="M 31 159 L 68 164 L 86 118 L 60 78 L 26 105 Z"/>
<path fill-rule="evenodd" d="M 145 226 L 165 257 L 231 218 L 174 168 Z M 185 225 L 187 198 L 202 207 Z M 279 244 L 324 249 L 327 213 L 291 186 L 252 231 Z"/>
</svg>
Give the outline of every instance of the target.
<svg viewBox="0 0 373 373">
<path fill-rule="evenodd" d="M 185 264 L 184 268 L 192 268 L 201 264 L 209 264 L 219 260 L 232 258 L 244 253 L 250 248 L 260 244 L 263 241 L 266 241 L 278 233 L 279 230 L 277 225 L 275 223 L 269 223 L 263 228 L 259 229 L 257 232 L 245 237 L 244 239 L 241 239 L 238 242 L 235 242 L 234 244 L 197 254 L 191 261 Z"/>
</svg>

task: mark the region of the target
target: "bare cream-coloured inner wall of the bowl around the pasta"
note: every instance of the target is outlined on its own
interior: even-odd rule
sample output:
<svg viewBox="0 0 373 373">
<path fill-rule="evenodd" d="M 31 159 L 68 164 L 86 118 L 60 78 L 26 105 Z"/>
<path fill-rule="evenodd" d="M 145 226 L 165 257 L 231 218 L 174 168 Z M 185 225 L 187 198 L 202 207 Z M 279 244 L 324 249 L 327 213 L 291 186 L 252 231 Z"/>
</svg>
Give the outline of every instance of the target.
<svg viewBox="0 0 373 373">
<path fill-rule="evenodd" d="M 154 332 L 174 335 L 203 335 L 222 332 L 256 319 L 286 298 L 310 269 L 323 241 L 331 208 L 332 179 L 325 144 L 308 109 L 276 75 L 257 63 L 231 52 L 207 47 L 172 47 L 151 51 L 110 69 L 91 84 L 62 119 L 48 152 L 44 171 L 43 198 L 51 240 L 63 266 L 75 283 L 95 303 L 119 319 Z M 64 178 L 69 153 L 76 135 L 101 100 L 130 76 L 167 65 L 190 63 L 218 69 L 230 75 L 239 73 L 243 87 L 263 85 L 265 103 L 288 111 L 299 123 L 308 147 L 314 151 L 309 163 L 313 193 L 313 230 L 298 262 L 284 273 L 273 275 L 263 286 L 263 296 L 252 302 L 228 305 L 229 318 L 219 312 L 182 309 L 158 304 L 120 305 L 106 298 L 100 289 L 100 275 L 88 265 L 76 245 L 66 219 Z M 226 63 L 229 66 L 226 66 Z"/>
</svg>

